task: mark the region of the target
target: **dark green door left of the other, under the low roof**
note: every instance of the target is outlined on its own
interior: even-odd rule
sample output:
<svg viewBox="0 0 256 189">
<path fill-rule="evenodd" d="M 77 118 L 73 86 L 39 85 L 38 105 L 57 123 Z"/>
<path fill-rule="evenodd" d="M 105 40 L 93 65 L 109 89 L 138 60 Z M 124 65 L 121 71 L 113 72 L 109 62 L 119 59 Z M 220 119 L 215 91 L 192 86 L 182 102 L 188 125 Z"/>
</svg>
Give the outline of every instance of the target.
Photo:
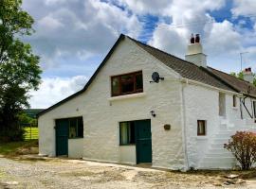
<svg viewBox="0 0 256 189">
<path fill-rule="evenodd" d="M 56 156 L 68 155 L 68 119 L 56 120 Z"/>
</svg>

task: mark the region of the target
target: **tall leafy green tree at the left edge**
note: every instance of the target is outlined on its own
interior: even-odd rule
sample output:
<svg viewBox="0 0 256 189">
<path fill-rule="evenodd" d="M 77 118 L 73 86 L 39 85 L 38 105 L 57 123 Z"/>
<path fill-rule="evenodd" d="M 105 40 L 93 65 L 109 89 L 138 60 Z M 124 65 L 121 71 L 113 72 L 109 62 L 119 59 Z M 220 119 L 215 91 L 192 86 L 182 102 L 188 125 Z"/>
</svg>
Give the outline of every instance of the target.
<svg viewBox="0 0 256 189">
<path fill-rule="evenodd" d="M 34 30 L 32 17 L 21 8 L 22 0 L 0 1 L 0 140 L 20 140 L 18 115 L 29 107 L 30 90 L 37 90 L 39 57 L 22 38 Z"/>
</svg>

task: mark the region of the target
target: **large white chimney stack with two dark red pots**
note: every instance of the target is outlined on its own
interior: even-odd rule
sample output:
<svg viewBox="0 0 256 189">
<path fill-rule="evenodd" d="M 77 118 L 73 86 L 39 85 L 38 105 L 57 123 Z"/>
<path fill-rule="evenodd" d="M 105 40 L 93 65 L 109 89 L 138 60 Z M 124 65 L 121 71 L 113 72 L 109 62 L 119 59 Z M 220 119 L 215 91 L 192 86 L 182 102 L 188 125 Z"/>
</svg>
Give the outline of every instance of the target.
<svg viewBox="0 0 256 189">
<path fill-rule="evenodd" d="M 192 34 L 191 43 L 188 46 L 185 60 L 191 61 L 197 66 L 207 67 L 207 56 L 203 53 L 203 47 L 200 43 L 199 34 L 196 34 L 195 38 Z"/>
</svg>

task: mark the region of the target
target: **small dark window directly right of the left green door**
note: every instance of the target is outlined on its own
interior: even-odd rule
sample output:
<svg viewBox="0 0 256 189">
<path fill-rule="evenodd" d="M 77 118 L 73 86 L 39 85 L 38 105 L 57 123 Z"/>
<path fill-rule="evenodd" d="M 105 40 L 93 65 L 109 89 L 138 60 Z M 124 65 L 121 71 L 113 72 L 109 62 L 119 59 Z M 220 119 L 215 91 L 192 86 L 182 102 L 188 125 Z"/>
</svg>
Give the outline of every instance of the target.
<svg viewBox="0 0 256 189">
<path fill-rule="evenodd" d="M 69 122 L 69 138 L 83 137 L 82 117 L 70 118 Z"/>
</svg>

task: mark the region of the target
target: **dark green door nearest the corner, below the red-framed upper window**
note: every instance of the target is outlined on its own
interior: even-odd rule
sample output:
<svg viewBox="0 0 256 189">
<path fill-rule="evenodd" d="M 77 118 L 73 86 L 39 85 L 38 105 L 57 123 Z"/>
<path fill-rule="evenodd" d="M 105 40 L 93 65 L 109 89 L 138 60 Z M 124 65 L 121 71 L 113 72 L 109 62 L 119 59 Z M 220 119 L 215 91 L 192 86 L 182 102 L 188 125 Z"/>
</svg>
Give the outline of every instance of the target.
<svg viewBox="0 0 256 189">
<path fill-rule="evenodd" d="M 152 140 L 150 120 L 135 121 L 137 163 L 152 163 Z"/>
</svg>

